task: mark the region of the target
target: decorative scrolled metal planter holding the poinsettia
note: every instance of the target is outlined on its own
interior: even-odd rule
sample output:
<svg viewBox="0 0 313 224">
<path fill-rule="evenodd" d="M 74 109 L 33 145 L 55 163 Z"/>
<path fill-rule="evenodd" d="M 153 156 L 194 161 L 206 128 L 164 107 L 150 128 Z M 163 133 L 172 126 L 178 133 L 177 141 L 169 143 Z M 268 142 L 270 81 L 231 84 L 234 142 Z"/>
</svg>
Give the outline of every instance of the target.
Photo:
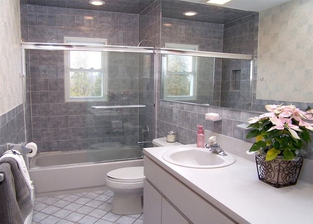
<svg viewBox="0 0 313 224">
<path fill-rule="evenodd" d="M 256 155 L 255 160 L 259 179 L 276 188 L 296 184 L 303 162 L 302 157 L 296 157 L 294 160 L 277 157 L 266 161 L 265 156 L 261 155 Z"/>
</svg>

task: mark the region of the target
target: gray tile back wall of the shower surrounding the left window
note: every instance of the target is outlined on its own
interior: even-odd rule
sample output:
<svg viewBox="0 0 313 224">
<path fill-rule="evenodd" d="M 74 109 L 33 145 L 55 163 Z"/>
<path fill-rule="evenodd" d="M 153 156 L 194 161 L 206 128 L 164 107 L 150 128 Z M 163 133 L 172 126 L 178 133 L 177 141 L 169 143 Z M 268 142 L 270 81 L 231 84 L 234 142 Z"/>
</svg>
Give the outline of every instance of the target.
<svg viewBox="0 0 313 224">
<path fill-rule="evenodd" d="M 137 45 L 138 15 L 28 5 L 30 42 L 63 43 L 64 36 L 108 38 L 110 45 Z M 65 103 L 64 52 L 29 51 L 31 135 L 39 152 L 83 150 L 100 142 L 135 145 L 137 130 L 112 131 L 112 121 L 138 122 L 136 110 L 90 111 L 88 103 Z M 138 104 L 138 54 L 110 53 L 109 105 Z M 129 127 L 129 126 L 128 126 Z"/>
</svg>

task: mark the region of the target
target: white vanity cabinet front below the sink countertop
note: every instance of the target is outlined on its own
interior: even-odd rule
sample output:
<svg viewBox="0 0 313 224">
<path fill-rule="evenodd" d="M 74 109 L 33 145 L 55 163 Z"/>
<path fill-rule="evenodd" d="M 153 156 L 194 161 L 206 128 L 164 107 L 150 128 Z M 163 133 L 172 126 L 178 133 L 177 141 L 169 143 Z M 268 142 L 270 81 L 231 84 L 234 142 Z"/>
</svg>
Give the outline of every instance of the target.
<svg viewBox="0 0 313 224">
<path fill-rule="evenodd" d="M 149 157 L 144 158 L 145 224 L 235 224 Z"/>
</svg>

